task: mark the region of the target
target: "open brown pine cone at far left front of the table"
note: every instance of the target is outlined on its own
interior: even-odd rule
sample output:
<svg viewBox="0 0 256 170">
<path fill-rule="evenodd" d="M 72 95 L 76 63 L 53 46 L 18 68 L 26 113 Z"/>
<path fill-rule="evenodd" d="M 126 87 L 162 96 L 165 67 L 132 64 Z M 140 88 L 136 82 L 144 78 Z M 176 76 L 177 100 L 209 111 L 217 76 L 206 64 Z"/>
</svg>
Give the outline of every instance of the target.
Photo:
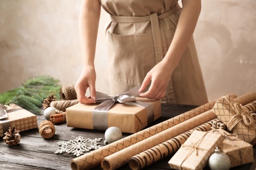
<svg viewBox="0 0 256 170">
<path fill-rule="evenodd" d="M 11 129 L 9 127 L 9 130 L 5 132 L 5 137 L 3 137 L 3 141 L 5 141 L 6 144 L 12 146 L 20 143 L 20 131 L 17 131 L 15 127 Z"/>
</svg>

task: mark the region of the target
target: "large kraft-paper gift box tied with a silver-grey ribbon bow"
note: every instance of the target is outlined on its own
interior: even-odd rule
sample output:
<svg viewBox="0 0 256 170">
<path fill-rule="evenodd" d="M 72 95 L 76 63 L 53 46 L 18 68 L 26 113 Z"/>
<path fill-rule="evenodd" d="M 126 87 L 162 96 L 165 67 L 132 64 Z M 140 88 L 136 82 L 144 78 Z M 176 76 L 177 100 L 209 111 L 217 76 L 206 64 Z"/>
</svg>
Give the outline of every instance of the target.
<svg viewBox="0 0 256 170">
<path fill-rule="evenodd" d="M 106 130 L 118 127 L 123 133 L 136 133 L 161 116 L 161 101 L 131 97 L 138 92 L 134 88 L 115 97 L 96 93 L 100 104 L 78 103 L 66 109 L 68 127 Z"/>
</svg>

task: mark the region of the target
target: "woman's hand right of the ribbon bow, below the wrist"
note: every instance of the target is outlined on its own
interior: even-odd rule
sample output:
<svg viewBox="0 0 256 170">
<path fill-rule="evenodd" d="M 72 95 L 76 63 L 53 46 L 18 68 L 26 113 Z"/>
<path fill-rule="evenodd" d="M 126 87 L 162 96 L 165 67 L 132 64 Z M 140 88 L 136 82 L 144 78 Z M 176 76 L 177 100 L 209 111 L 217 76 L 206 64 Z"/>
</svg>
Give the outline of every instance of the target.
<svg viewBox="0 0 256 170">
<path fill-rule="evenodd" d="M 150 88 L 147 92 L 140 94 L 140 97 L 148 99 L 162 99 L 165 96 L 169 80 L 171 78 L 172 69 L 163 61 L 153 67 L 144 78 L 139 92 L 143 92 L 151 81 Z"/>
</svg>

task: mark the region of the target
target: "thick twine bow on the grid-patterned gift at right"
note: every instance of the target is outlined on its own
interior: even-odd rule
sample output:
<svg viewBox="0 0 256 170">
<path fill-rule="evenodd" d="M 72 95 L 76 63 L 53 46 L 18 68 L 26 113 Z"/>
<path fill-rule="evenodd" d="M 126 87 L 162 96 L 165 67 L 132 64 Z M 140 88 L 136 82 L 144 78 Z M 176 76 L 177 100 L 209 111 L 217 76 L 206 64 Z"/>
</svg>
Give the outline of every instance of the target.
<svg viewBox="0 0 256 170">
<path fill-rule="evenodd" d="M 251 116 L 251 111 L 247 110 L 239 103 L 235 103 L 233 107 L 236 114 L 228 122 L 228 129 L 232 131 L 234 126 L 240 121 L 243 121 L 247 126 L 255 126 L 255 119 Z"/>
</svg>

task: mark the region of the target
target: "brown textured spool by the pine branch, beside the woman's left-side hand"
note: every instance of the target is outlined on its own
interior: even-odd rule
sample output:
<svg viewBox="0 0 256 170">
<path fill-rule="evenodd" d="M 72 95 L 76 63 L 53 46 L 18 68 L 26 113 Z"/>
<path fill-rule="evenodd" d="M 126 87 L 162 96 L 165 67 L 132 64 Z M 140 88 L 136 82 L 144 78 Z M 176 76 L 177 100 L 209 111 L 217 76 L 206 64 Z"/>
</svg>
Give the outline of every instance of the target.
<svg viewBox="0 0 256 170">
<path fill-rule="evenodd" d="M 77 99 L 75 87 L 72 84 L 61 86 L 60 87 L 60 99 L 62 99 L 62 100 Z"/>
</svg>

